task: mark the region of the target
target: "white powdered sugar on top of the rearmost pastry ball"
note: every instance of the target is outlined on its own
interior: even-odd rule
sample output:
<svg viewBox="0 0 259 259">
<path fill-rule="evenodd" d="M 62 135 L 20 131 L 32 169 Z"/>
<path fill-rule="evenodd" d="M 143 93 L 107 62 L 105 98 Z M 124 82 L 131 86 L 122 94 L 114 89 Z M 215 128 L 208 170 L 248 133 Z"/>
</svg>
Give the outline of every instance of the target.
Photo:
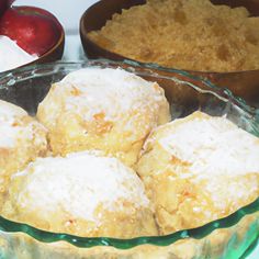
<svg viewBox="0 0 259 259">
<path fill-rule="evenodd" d="M 74 89 L 78 92 L 67 98 L 66 109 L 83 110 L 87 121 L 100 113 L 110 121 L 120 120 L 123 112 L 130 110 L 140 113 L 148 108 L 155 111 L 159 109 L 159 102 L 165 101 L 164 90 L 156 82 L 120 68 L 80 69 L 67 75 L 57 86 L 60 91 Z"/>
</svg>

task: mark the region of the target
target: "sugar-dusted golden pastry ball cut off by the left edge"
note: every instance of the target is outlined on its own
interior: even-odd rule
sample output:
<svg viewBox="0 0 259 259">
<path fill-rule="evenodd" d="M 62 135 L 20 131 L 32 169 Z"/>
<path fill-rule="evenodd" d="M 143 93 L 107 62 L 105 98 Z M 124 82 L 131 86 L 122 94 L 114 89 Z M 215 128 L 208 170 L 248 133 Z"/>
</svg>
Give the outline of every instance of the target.
<svg viewBox="0 0 259 259">
<path fill-rule="evenodd" d="M 11 173 L 46 151 L 46 128 L 23 109 L 0 100 L 0 189 Z"/>
</svg>

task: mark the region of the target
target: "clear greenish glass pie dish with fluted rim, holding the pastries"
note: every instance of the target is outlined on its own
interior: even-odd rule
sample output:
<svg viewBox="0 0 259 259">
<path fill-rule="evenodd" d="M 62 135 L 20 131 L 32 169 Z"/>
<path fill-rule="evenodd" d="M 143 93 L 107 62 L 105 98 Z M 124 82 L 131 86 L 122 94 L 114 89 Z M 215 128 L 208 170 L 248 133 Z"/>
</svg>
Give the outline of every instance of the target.
<svg viewBox="0 0 259 259">
<path fill-rule="evenodd" d="M 259 137 L 259 115 L 224 88 L 181 70 L 160 69 L 137 63 L 90 60 L 57 63 L 16 69 L 0 77 L 0 99 L 34 115 L 50 85 L 85 67 L 122 67 L 166 91 L 173 119 L 200 110 L 225 115 Z M 227 217 L 167 236 L 132 239 L 79 237 L 50 233 L 0 216 L 0 258 L 227 258 L 236 259 L 255 247 L 259 238 L 259 198 Z"/>
</svg>

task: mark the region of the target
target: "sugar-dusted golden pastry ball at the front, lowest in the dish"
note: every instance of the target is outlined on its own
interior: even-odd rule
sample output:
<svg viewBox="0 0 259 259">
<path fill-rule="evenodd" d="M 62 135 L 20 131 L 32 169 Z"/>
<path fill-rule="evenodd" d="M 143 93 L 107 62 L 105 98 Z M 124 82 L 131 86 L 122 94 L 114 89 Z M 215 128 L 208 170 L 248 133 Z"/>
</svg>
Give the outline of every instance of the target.
<svg viewBox="0 0 259 259">
<path fill-rule="evenodd" d="M 1 215 L 76 236 L 157 235 L 140 179 L 98 151 L 36 159 L 13 174 Z"/>
</svg>

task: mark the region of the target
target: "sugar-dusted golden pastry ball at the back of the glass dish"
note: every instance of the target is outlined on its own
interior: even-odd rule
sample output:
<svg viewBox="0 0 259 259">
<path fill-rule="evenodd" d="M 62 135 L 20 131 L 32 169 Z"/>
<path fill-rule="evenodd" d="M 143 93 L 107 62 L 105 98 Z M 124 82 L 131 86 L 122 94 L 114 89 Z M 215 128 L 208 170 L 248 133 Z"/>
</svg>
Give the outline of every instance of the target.
<svg viewBox="0 0 259 259">
<path fill-rule="evenodd" d="M 49 130 L 55 155 L 101 149 L 132 166 L 170 112 L 156 82 L 122 69 L 86 68 L 52 86 L 37 117 Z"/>
</svg>

